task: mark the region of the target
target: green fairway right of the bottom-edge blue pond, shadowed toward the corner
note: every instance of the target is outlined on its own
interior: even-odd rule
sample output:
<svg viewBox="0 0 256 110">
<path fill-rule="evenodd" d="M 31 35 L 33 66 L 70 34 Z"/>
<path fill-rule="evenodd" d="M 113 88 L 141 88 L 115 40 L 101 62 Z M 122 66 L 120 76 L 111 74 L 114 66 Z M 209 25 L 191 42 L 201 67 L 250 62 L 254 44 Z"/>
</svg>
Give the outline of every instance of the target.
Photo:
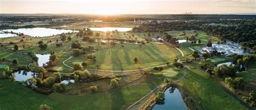
<svg viewBox="0 0 256 110">
<path fill-rule="evenodd" d="M 197 106 L 201 106 L 199 104 L 201 101 L 203 109 L 247 109 L 209 77 L 205 71 L 198 69 L 197 63 L 192 62 L 186 65 L 190 69 L 186 69 L 187 76 L 181 80 L 181 84 L 186 86 Z"/>
</svg>

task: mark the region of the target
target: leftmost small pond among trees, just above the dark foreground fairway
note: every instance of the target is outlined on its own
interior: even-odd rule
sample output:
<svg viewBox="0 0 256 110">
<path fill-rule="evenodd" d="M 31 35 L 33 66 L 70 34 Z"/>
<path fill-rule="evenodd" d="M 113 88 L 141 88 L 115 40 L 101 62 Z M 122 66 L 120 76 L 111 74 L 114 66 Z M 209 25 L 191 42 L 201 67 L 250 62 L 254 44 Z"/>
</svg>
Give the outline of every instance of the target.
<svg viewBox="0 0 256 110">
<path fill-rule="evenodd" d="M 15 80 L 18 82 L 25 81 L 26 79 L 36 77 L 36 74 L 34 72 L 24 71 L 24 70 L 14 72 L 14 74 L 15 74 Z"/>
</svg>

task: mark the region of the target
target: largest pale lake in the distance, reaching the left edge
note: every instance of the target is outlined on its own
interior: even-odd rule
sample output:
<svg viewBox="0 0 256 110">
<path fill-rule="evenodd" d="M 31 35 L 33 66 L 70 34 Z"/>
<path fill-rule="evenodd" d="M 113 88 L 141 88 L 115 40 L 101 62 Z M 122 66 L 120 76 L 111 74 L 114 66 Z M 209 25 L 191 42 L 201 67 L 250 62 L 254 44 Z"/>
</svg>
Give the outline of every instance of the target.
<svg viewBox="0 0 256 110">
<path fill-rule="evenodd" d="M 77 32 L 72 30 L 57 30 L 54 28 L 19 28 L 17 30 L 9 29 L 9 30 L 2 30 L 2 31 L 8 31 L 8 32 L 15 32 L 15 33 L 24 33 L 26 35 L 30 36 L 51 36 L 51 35 L 57 35 L 61 33 L 68 33 L 68 32 Z"/>
</svg>

